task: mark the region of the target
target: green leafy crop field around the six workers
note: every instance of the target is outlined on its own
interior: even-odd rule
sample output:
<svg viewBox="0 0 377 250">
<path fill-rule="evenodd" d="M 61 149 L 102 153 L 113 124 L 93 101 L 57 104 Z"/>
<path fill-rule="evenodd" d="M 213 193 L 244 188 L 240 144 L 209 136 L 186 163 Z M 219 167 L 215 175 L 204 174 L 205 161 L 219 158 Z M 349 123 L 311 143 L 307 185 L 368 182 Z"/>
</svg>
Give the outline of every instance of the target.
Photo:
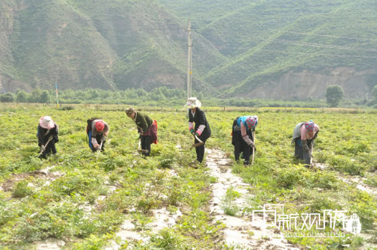
<svg viewBox="0 0 377 250">
<path fill-rule="evenodd" d="M 158 121 L 158 144 L 151 145 L 151 157 L 143 158 L 136 151 L 136 125 L 125 108 L 77 105 L 56 110 L 33 104 L 0 108 L 0 249 L 38 249 L 47 241 L 60 242 L 61 249 L 237 249 L 224 241 L 226 226 L 210 212 L 211 185 L 217 178 L 205 164 L 197 169 L 189 166 L 195 150 L 190 149 L 193 136 L 186 110 L 143 110 Z M 227 214 L 244 216 L 265 204 L 284 204 L 286 214 L 345 210 L 348 216 L 359 216 L 360 234 L 341 229 L 343 237 L 287 240 L 302 249 L 377 247 L 376 113 L 202 109 L 212 130 L 206 149 L 223 152 L 230 160 L 227 167 L 251 187 L 242 208 L 232 205 L 239 194 L 229 187 L 223 199 Z M 234 118 L 246 114 L 259 118 L 257 153 L 248 167 L 234 161 L 230 136 Z M 59 125 L 60 141 L 56 155 L 40 160 L 36 128 L 45 115 Z M 104 119 L 110 127 L 103 153 L 92 153 L 86 144 L 86 120 L 91 117 Z M 291 136 L 297 123 L 310 119 L 320 127 L 313 156 L 321 167 L 309 169 L 295 160 Z M 151 227 L 156 210 L 179 216 L 156 230 Z M 117 233 L 125 221 L 140 237 L 120 238 Z M 325 231 L 334 232 L 329 227 Z M 304 232 L 314 234 L 318 229 Z"/>
</svg>

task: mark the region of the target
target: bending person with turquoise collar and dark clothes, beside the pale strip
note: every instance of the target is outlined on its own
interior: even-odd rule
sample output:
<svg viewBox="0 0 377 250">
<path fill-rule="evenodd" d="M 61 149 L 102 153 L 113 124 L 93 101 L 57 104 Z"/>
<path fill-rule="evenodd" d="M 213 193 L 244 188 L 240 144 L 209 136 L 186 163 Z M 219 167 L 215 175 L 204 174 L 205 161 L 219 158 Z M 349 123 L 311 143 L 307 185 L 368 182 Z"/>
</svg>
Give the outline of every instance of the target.
<svg viewBox="0 0 377 250">
<path fill-rule="evenodd" d="M 250 164 L 250 155 L 254 147 L 254 132 L 258 124 L 258 116 L 239 116 L 234 119 L 232 126 L 232 145 L 234 146 L 234 160 L 239 162 L 239 156 L 243 153 L 243 164 Z"/>
</svg>

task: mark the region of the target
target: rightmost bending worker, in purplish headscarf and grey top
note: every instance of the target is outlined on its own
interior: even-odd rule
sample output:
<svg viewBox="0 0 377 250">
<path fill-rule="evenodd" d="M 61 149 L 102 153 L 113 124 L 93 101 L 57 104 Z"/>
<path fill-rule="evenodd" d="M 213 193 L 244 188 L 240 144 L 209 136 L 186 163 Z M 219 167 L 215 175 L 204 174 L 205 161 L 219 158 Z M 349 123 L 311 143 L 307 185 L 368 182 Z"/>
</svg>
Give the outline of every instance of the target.
<svg viewBox="0 0 377 250">
<path fill-rule="evenodd" d="M 295 144 L 295 157 L 306 164 L 306 167 L 311 166 L 313 158 L 313 144 L 319 127 L 313 121 L 298 123 L 293 129 L 292 144 Z"/>
</svg>

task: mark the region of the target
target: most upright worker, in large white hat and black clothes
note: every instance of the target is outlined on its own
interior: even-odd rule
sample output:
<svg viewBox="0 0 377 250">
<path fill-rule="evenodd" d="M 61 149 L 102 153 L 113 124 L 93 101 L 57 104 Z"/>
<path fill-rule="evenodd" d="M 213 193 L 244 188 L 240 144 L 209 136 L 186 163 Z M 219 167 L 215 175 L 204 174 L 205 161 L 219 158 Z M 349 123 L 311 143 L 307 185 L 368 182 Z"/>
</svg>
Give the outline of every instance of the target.
<svg viewBox="0 0 377 250">
<path fill-rule="evenodd" d="M 202 103 L 196 97 L 190 97 L 187 100 L 186 106 L 189 108 L 189 131 L 194 134 L 204 142 L 203 145 L 195 147 L 196 150 L 196 160 L 191 164 L 195 165 L 197 163 L 202 163 L 204 158 L 204 145 L 206 140 L 210 138 L 210 125 L 206 119 L 206 114 L 200 109 Z M 195 126 L 194 126 L 195 123 Z M 195 144 L 199 141 L 195 138 Z"/>
</svg>

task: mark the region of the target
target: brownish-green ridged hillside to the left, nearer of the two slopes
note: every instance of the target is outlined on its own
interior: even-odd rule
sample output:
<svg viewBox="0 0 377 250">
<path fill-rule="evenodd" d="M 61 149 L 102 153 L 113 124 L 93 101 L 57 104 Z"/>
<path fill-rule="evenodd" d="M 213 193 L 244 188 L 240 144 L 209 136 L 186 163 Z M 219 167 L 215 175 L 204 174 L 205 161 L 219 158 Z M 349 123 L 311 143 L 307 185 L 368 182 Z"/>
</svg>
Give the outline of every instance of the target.
<svg viewBox="0 0 377 250">
<path fill-rule="evenodd" d="M 55 82 L 75 89 L 185 87 L 186 29 L 154 1 L 0 4 L 3 88 L 22 88 L 17 82 L 31 88 Z M 197 51 L 201 68 L 221 59 L 205 38 Z M 193 81 L 199 90 L 210 89 L 199 76 Z"/>
</svg>

